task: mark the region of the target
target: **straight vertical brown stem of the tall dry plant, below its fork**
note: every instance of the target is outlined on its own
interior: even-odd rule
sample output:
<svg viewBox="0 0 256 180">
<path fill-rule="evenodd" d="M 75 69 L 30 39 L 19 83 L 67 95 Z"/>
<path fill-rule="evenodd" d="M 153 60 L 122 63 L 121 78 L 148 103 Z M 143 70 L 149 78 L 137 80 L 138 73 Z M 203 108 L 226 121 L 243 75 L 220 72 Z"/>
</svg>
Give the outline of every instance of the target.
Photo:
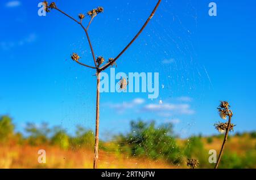
<svg viewBox="0 0 256 180">
<path fill-rule="evenodd" d="M 94 158 L 93 158 L 93 168 L 97 168 L 98 162 L 98 135 L 100 126 L 100 72 L 97 73 L 97 92 L 96 92 L 96 126 L 95 126 L 95 144 L 94 144 Z"/>
</svg>

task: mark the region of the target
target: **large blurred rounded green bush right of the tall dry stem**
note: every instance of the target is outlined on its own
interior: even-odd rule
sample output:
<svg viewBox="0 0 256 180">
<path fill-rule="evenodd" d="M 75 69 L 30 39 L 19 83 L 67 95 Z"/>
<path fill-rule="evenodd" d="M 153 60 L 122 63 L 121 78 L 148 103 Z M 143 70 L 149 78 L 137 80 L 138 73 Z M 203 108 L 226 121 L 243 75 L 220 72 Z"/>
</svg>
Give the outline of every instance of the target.
<svg viewBox="0 0 256 180">
<path fill-rule="evenodd" d="M 172 124 L 156 127 L 155 122 L 132 121 L 131 132 L 118 137 L 120 148 L 125 147 L 132 156 L 164 158 L 170 163 L 180 162 L 180 149 L 172 131 Z"/>
</svg>

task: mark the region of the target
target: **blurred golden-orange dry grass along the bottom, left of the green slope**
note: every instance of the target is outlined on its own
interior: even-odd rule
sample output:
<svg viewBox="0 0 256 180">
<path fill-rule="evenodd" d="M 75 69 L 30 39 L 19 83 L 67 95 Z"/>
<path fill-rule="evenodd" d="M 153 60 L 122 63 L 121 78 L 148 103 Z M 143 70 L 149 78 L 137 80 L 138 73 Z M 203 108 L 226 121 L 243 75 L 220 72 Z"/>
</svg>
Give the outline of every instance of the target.
<svg viewBox="0 0 256 180">
<path fill-rule="evenodd" d="M 39 164 L 38 150 L 46 151 L 46 164 Z M 30 145 L 0 146 L 0 168 L 92 168 L 93 151 L 63 150 L 58 147 Z M 152 161 L 100 151 L 98 168 L 174 168 L 164 161 Z"/>
</svg>

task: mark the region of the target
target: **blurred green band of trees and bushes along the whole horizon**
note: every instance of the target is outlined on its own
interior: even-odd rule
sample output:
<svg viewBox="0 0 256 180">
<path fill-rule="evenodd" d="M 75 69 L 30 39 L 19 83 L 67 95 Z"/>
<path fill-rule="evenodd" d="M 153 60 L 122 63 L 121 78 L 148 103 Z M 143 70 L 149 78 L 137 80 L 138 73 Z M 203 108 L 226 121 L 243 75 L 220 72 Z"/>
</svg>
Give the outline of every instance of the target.
<svg viewBox="0 0 256 180">
<path fill-rule="evenodd" d="M 134 157 L 161 159 L 176 166 L 184 164 L 187 158 L 196 158 L 200 161 L 200 168 L 213 168 L 214 165 L 208 162 L 209 154 L 203 139 L 210 144 L 214 139 L 223 138 L 223 135 L 199 135 L 182 140 L 175 136 L 171 123 L 156 126 L 154 121 L 131 121 L 130 127 L 130 132 L 114 136 L 111 142 L 100 141 L 100 149 Z M 14 131 L 14 124 L 9 116 L 0 117 L 0 144 L 47 144 L 57 145 L 62 149 L 93 149 L 94 145 L 93 131 L 82 126 L 77 126 L 73 136 L 68 135 L 61 127 L 49 128 L 47 123 L 40 126 L 27 123 L 24 130 L 26 136 Z M 256 132 L 237 133 L 234 136 L 246 136 L 254 140 Z M 253 149 L 245 150 L 244 155 L 226 151 L 220 168 L 256 168 L 256 144 Z"/>
</svg>

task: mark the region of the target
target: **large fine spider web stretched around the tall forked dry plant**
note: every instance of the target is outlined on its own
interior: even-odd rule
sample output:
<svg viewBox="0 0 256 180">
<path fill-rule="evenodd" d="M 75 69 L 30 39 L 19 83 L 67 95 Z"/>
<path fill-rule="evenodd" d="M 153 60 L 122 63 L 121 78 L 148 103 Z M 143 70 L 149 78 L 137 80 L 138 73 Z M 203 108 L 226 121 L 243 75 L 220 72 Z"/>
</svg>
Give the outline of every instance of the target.
<svg viewBox="0 0 256 180">
<path fill-rule="evenodd" d="M 126 6 L 134 3 L 128 1 Z M 145 12 L 150 10 L 152 4 L 147 2 L 144 5 Z M 126 73 L 159 72 L 159 97 L 148 99 L 147 93 L 101 93 L 99 160 L 104 168 L 184 168 L 185 158 L 190 156 L 189 149 L 195 140 L 188 137 L 192 135 L 196 119 L 191 117 L 192 108 L 185 105 L 192 106 L 193 101 L 185 98 L 178 100 L 178 97 L 193 98 L 200 88 L 212 83 L 207 69 L 197 63 L 197 47 L 193 40 L 198 26 L 196 3 L 185 1 L 184 12 L 177 12 L 176 6 L 181 5 L 174 1 L 163 2 L 142 36 L 119 59 L 115 68 L 117 72 Z M 125 8 L 120 11 L 121 16 L 112 17 L 118 24 L 133 24 L 135 20 L 143 23 L 145 20 L 135 19 L 132 15 L 124 18 L 131 12 L 125 11 Z M 109 21 L 104 24 L 106 28 L 109 28 Z M 104 44 L 104 48 L 96 49 L 103 49 L 105 54 L 97 54 L 97 51 L 97 56 L 104 55 L 105 59 L 113 57 L 133 37 L 129 32 L 135 33 L 134 29 L 127 25 L 127 29 L 123 29 L 127 31 L 126 36 L 118 45 L 112 43 L 111 37 L 95 37 L 93 33 L 93 45 L 98 47 Z M 104 42 L 100 42 L 102 37 Z M 69 48 L 81 54 L 82 62 L 92 64 L 86 39 L 82 35 L 80 39 L 71 43 Z M 65 70 L 64 93 L 70 98 L 64 101 L 61 121 L 72 129 L 76 129 L 76 125 L 86 127 L 81 130 L 79 138 L 72 139 L 75 145 L 71 147 L 76 152 L 85 148 L 88 158 L 84 158 L 89 164 L 93 162 L 96 78 L 93 71 L 85 71 L 71 63 L 69 66 L 72 69 Z M 71 83 L 71 77 L 75 78 L 75 83 Z M 142 98 L 143 102 L 135 102 L 134 98 Z M 179 108 L 184 108 L 184 112 Z M 138 121 L 140 118 L 142 121 Z M 89 130 L 90 134 L 87 133 Z M 84 145 L 83 141 L 88 139 L 91 144 Z"/>
</svg>

